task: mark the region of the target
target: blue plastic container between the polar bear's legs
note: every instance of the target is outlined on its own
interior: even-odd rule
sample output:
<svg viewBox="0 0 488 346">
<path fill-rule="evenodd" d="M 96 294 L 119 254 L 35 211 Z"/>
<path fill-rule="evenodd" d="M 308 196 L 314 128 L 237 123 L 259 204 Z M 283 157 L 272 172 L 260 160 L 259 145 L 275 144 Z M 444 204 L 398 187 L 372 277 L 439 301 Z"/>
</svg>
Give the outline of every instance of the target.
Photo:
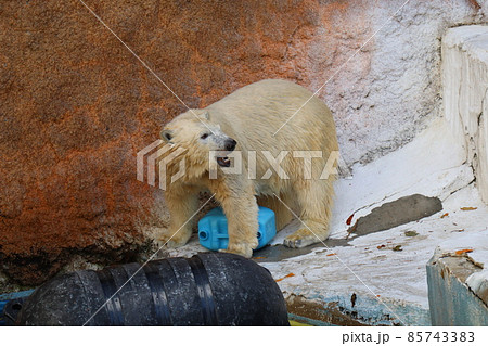
<svg viewBox="0 0 488 346">
<path fill-rule="evenodd" d="M 267 245 L 277 234 L 274 212 L 265 207 L 259 207 L 258 214 L 258 247 Z M 227 217 L 222 208 L 217 207 L 207 213 L 198 221 L 198 239 L 202 246 L 217 251 L 227 248 L 229 244 L 229 233 Z M 256 249 L 257 249 L 256 248 Z"/>
</svg>

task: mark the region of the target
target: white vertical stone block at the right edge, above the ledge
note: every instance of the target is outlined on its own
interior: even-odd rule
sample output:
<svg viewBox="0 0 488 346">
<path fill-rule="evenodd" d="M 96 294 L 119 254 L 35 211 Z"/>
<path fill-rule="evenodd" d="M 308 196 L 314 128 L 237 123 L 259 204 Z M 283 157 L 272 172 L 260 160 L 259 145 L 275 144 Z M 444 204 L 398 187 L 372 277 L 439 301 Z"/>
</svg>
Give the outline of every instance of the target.
<svg viewBox="0 0 488 346">
<path fill-rule="evenodd" d="M 442 40 L 445 116 L 464 144 L 488 203 L 488 26 L 449 29 Z"/>
</svg>

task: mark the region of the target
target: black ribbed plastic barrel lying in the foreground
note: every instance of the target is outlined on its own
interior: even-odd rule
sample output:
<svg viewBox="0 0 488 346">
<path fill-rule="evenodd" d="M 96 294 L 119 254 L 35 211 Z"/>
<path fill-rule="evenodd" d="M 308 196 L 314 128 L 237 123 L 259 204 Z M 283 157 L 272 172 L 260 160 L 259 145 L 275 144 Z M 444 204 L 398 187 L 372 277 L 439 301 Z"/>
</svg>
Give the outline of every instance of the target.
<svg viewBox="0 0 488 346">
<path fill-rule="evenodd" d="M 60 275 L 26 299 L 17 325 L 290 324 L 266 268 L 237 255 L 203 253 Z"/>
</svg>

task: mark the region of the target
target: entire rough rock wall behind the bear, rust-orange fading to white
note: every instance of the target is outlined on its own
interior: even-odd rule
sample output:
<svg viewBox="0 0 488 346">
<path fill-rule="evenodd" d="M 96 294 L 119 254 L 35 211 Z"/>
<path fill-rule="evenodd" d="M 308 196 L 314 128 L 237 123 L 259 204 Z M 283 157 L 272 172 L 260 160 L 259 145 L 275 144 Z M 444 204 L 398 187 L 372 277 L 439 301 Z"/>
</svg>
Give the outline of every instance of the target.
<svg viewBox="0 0 488 346">
<path fill-rule="evenodd" d="M 403 0 L 86 2 L 190 107 L 262 78 L 333 77 L 319 95 L 348 164 L 438 113 L 439 38 L 487 13 L 412 0 L 382 28 Z M 37 284 L 73 256 L 131 259 L 167 219 L 136 154 L 185 107 L 79 1 L 3 0 L 0 17 L 1 271 Z"/>
</svg>

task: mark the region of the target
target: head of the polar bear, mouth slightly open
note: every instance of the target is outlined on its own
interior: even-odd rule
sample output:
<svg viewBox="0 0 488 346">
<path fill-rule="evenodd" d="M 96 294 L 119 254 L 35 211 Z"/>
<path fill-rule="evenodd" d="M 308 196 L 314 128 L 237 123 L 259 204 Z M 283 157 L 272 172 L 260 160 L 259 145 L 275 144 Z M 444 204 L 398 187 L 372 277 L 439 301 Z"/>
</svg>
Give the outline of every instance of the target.
<svg viewBox="0 0 488 346">
<path fill-rule="evenodd" d="M 185 150 L 185 157 L 193 165 L 209 167 L 209 159 L 216 159 L 221 167 L 229 167 L 227 157 L 237 142 L 222 132 L 220 125 L 209 119 L 204 110 L 191 110 L 169 121 L 160 137 L 175 148 Z M 210 157 L 210 153 L 214 153 Z"/>
</svg>

